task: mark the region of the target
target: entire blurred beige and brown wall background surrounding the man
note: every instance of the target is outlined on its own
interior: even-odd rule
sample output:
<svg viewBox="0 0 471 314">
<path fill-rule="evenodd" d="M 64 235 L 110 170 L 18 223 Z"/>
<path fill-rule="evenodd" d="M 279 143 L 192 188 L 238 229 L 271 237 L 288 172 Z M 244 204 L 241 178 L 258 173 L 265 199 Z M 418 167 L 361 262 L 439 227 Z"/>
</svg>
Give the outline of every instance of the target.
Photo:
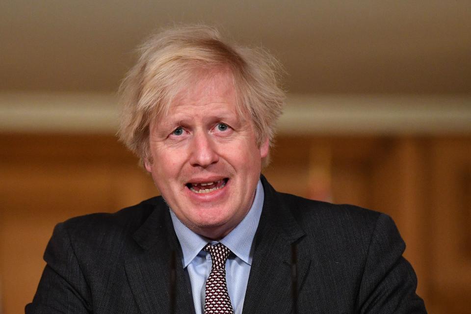
<svg viewBox="0 0 471 314">
<path fill-rule="evenodd" d="M 470 1 L 1 1 L 0 313 L 23 313 L 53 226 L 157 193 L 115 91 L 153 30 L 205 23 L 286 68 L 280 191 L 384 211 L 430 313 L 471 313 Z M 314 296 L 315 297 L 315 296 Z"/>
</svg>

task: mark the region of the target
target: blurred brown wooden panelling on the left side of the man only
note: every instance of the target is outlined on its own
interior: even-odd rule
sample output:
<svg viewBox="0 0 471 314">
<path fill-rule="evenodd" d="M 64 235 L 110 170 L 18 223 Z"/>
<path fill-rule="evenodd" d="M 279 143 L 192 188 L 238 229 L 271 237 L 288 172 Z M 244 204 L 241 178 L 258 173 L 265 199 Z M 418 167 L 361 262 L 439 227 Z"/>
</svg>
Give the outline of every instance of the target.
<svg viewBox="0 0 471 314">
<path fill-rule="evenodd" d="M 8 147 L 0 153 L 0 294 L 3 313 L 17 314 L 32 300 L 57 223 L 157 190 L 112 136 L 10 136 L 0 137 Z"/>
</svg>

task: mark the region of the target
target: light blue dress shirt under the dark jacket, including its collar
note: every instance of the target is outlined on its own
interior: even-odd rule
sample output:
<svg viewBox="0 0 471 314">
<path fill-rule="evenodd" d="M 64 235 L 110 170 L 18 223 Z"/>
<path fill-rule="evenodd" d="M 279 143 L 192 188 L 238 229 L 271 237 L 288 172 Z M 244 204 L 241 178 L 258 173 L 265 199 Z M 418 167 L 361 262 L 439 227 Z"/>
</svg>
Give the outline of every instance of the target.
<svg viewBox="0 0 471 314">
<path fill-rule="evenodd" d="M 235 314 L 242 314 L 253 258 L 252 242 L 262 214 L 263 199 L 263 186 L 259 180 L 249 212 L 234 230 L 219 241 L 234 253 L 229 255 L 226 262 L 226 282 Z M 209 253 L 202 250 L 208 242 L 215 244 L 217 241 L 195 234 L 177 218 L 172 210 L 170 210 L 170 215 L 182 246 L 182 263 L 183 267 L 187 268 L 190 277 L 196 314 L 204 314 L 206 280 L 211 272 L 212 262 Z"/>
</svg>

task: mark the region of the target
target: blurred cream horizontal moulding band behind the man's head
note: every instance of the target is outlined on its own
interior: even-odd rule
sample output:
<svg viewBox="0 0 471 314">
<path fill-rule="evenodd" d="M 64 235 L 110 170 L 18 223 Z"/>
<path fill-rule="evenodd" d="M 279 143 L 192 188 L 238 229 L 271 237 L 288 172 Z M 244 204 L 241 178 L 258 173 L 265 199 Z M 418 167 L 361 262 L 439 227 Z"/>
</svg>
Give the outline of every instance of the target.
<svg viewBox="0 0 471 314">
<path fill-rule="evenodd" d="M 114 134 L 112 93 L 0 92 L 0 132 Z M 471 131 L 470 95 L 288 94 L 280 134 L 460 134 Z"/>
</svg>

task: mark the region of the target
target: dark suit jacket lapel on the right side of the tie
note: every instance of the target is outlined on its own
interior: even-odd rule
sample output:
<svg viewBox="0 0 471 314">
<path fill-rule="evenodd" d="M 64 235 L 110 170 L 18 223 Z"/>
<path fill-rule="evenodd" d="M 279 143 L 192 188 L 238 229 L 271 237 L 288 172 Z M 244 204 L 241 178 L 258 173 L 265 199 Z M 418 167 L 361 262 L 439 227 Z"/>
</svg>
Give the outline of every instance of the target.
<svg viewBox="0 0 471 314">
<path fill-rule="evenodd" d="M 305 234 L 288 209 L 280 204 L 277 193 L 262 177 L 265 199 L 254 239 L 254 257 L 245 293 L 244 314 L 290 313 L 291 245 Z M 298 250 L 299 290 L 309 270 L 308 252 Z"/>
</svg>

